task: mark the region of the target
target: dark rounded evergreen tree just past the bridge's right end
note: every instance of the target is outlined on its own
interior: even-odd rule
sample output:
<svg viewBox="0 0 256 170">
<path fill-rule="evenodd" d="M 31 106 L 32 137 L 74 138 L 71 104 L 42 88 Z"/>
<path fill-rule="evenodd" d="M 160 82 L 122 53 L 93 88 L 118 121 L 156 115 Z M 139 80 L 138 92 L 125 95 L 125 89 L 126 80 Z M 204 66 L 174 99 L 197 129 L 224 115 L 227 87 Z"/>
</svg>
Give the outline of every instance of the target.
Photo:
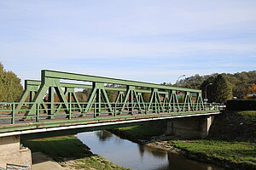
<svg viewBox="0 0 256 170">
<path fill-rule="evenodd" d="M 232 88 L 230 83 L 226 81 L 223 75 L 218 75 L 212 83 L 214 92 L 213 99 L 218 103 L 225 103 L 227 100 L 232 99 Z"/>
</svg>

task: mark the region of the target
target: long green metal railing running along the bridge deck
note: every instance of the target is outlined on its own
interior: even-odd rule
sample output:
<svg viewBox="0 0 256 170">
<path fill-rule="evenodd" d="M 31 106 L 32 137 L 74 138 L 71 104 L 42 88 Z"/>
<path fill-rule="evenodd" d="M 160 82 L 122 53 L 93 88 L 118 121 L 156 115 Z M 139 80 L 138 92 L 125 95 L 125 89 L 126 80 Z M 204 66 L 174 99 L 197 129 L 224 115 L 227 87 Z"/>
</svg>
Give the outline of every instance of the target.
<svg viewBox="0 0 256 170">
<path fill-rule="evenodd" d="M 161 105 L 159 103 L 117 103 L 117 102 L 95 102 L 90 105 L 89 102 L 68 103 L 64 105 L 62 102 L 44 102 L 36 103 L 25 102 L 19 110 L 17 106 L 20 103 L 0 103 L 0 125 L 15 124 L 22 122 L 44 122 L 50 120 L 78 119 L 83 118 L 104 118 L 111 116 L 134 116 L 134 115 L 182 115 L 182 114 L 200 114 L 207 111 L 224 110 L 224 105 L 216 103 L 205 103 L 203 107 L 199 104 L 192 103 L 167 103 Z M 30 111 L 30 105 L 36 105 L 36 109 L 32 114 L 25 115 Z M 48 107 L 50 106 L 50 107 Z"/>
</svg>

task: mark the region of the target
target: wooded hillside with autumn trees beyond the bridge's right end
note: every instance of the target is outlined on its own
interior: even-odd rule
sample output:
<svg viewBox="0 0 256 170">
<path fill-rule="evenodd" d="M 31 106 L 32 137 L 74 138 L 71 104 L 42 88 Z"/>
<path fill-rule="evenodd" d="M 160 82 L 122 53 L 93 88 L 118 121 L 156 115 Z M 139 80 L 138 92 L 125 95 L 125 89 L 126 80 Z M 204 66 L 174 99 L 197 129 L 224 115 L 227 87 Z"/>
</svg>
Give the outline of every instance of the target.
<svg viewBox="0 0 256 170">
<path fill-rule="evenodd" d="M 212 85 L 208 85 L 212 83 Z M 248 93 L 256 93 L 256 71 L 242 71 L 235 74 L 214 73 L 212 75 L 200 76 L 196 74 L 186 77 L 175 84 L 164 82 L 163 84 L 178 86 L 183 88 L 201 89 L 203 97 L 207 86 L 207 99 L 209 102 L 224 102 L 227 99 L 236 97 L 237 99 L 247 98 Z M 254 84 L 254 85 L 253 85 Z"/>
</svg>

